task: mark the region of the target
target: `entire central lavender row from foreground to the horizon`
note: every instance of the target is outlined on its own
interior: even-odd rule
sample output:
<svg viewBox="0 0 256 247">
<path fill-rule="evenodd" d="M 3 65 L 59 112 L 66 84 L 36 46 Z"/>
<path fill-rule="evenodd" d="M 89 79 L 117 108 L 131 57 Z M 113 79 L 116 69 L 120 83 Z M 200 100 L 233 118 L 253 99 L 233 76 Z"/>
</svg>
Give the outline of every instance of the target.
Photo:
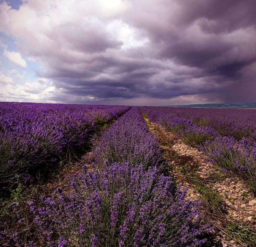
<svg viewBox="0 0 256 247">
<path fill-rule="evenodd" d="M 135 107 L 105 130 L 92 149 L 100 168 L 84 166 L 41 207 L 29 202 L 49 246 L 202 246 L 201 204 L 162 174 L 157 144 Z"/>
</svg>

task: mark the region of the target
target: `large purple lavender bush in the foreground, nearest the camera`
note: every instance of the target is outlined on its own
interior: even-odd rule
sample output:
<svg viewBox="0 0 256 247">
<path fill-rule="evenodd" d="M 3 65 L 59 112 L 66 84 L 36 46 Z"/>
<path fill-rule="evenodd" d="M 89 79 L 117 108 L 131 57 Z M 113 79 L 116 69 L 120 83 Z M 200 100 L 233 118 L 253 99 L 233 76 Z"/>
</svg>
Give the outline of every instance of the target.
<svg viewBox="0 0 256 247">
<path fill-rule="evenodd" d="M 70 192 L 57 188 L 43 205 L 29 202 L 49 246 L 201 246 L 211 229 L 200 203 L 184 201 L 155 166 L 130 163 L 74 174 Z"/>
</svg>

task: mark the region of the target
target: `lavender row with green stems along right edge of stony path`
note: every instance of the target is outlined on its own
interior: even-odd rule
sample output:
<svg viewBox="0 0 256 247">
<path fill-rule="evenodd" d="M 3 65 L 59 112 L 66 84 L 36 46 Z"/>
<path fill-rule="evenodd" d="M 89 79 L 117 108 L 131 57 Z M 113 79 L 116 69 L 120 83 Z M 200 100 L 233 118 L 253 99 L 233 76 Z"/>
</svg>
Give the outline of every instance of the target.
<svg viewBox="0 0 256 247">
<path fill-rule="evenodd" d="M 225 172 L 237 174 L 256 194 L 256 142 L 252 138 L 237 140 L 232 136 L 222 137 L 211 126 L 200 126 L 190 119 L 177 117 L 175 112 L 166 114 L 152 108 L 141 110 L 150 121 L 174 131 L 189 145 L 200 144 L 197 147 L 207 155 L 209 162 L 220 166 Z"/>
</svg>

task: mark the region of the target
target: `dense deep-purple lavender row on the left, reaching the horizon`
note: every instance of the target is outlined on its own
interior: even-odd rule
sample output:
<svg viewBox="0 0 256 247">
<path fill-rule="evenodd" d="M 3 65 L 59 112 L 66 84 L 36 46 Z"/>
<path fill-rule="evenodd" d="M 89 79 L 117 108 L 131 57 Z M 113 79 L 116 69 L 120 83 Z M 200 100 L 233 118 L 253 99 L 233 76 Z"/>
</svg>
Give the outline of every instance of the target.
<svg viewBox="0 0 256 247">
<path fill-rule="evenodd" d="M 117 119 L 122 106 L 0 103 L 0 184 L 32 181 L 54 169 L 67 150 L 88 148 L 99 124 Z"/>
</svg>

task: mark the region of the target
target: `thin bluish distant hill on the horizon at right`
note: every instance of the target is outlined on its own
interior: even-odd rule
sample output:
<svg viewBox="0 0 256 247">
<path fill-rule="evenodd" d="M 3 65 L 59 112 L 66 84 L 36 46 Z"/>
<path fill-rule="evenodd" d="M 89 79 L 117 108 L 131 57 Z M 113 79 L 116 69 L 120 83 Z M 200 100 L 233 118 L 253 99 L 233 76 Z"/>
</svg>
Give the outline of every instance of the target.
<svg viewBox="0 0 256 247">
<path fill-rule="evenodd" d="M 215 103 L 215 104 L 192 104 L 192 105 L 176 105 L 168 107 L 189 107 L 189 108 L 224 108 L 224 109 L 243 109 L 256 108 L 256 102 L 242 103 Z"/>
</svg>

